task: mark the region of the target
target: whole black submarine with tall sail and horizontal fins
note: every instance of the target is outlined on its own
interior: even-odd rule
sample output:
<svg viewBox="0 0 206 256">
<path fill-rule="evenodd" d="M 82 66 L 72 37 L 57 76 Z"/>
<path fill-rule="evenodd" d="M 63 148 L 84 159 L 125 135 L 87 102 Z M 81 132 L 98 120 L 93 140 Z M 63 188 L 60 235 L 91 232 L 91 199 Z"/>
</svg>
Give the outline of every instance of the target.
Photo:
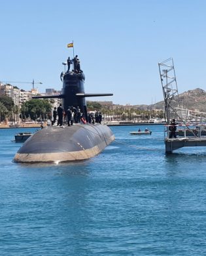
<svg viewBox="0 0 206 256">
<path fill-rule="evenodd" d="M 63 127 L 47 126 L 24 142 L 14 156 L 16 163 L 61 163 L 88 160 L 99 154 L 115 139 L 107 125 L 88 123 L 86 97 L 112 96 L 112 93 L 84 92 L 85 75 L 76 55 L 67 59 L 68 69 L 61 72 L 63 87 L 60 95 L 33 96 L 33 98 L 61 98 L 63 109 L 79 107 L 84 122 Z M 72 70 L 70 71 L 70 67 Z"/>
</svg>

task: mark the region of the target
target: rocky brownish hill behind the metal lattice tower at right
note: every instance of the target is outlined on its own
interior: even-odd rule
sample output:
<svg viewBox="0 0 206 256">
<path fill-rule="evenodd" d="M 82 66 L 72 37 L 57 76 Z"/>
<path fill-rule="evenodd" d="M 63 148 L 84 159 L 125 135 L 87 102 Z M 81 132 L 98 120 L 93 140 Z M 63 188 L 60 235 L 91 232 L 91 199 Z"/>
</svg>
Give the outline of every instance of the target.
<svg viewBox="0 0 206 256">
<path fill-rule="evenodd" d="M 189 110 L 196 110 L 199 112 L 206 112 L 206 91 L 197 88 L 179 94 L 179 98 L 175 97 L 173 107 L 186 108 Z M 150 108 L 164 109 L 164 102 L 160 101 L 156 104 L 150 105 Z"/>
</svg>

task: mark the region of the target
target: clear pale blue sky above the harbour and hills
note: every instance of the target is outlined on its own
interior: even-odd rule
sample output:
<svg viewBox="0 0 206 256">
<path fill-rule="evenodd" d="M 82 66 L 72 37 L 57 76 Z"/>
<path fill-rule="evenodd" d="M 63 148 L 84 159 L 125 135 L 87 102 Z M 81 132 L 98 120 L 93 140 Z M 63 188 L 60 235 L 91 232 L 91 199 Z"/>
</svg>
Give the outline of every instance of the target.
<svg viewBox="0 0 206 256">
<path fill-rule="evenodd" d="M 0 11 L 0 81 L 35 79 L 41 92 L 60 90 L 74 41 L 85 92 L 114 94 L 88 100 L 163 100 L 158 62 L 170 57 L 179 93 L 206 90 L 204 0 L 0 0 Z"/>
</svg>

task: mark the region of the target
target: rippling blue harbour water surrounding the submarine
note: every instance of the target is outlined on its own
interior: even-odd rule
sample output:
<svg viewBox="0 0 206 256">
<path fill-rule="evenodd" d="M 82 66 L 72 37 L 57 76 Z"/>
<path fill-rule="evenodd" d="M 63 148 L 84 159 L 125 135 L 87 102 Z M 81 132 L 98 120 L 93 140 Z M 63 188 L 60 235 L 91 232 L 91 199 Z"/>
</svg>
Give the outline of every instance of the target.
<svg viewBox="0 0 206 256">
<path fill-rule="evenodd" d="M 148 128 L 59 165 L 13 163 L 23 129 L 1 129 L 0 255 L 206 255 L 206 148 L 167 156 Z"/>
</svg>

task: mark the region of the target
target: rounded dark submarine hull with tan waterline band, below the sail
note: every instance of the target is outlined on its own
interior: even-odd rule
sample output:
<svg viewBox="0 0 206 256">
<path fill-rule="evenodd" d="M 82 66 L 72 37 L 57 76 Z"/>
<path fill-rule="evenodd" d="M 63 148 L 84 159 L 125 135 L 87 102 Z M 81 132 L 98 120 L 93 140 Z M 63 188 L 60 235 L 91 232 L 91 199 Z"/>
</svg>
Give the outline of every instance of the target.
<svg viewBox="0 0 206 256">
<path fill-rule="evenodd" d="M 87 160 L 114 140 L 106 125 L 75 124 L 44 127 L 24 142 L 14 157 L 17 163 L 60 163 Z"/>
</svg>

